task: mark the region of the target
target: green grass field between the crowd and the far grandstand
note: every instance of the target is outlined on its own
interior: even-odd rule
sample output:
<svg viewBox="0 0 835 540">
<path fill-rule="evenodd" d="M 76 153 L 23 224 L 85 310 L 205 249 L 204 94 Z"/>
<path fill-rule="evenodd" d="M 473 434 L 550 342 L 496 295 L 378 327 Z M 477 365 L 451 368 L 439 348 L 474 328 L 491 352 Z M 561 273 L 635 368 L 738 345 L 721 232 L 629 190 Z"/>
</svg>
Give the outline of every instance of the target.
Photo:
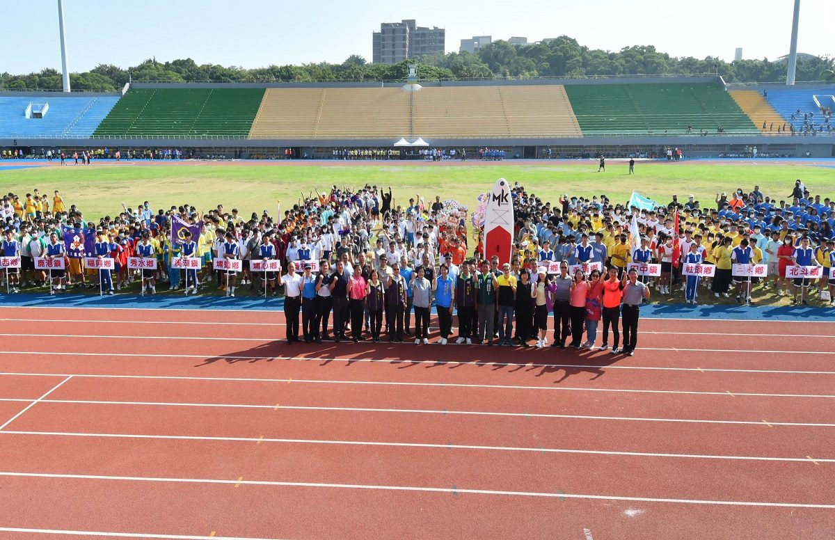
<svg viewBox="0 0 835 540">
<path fill-rule="evenodd" d="M 333 184 L 357 188 L 363 184 L 391 186 L 395 204 L 410 197 L 458 199 L 471 209 L 476 196 L 490 189 L 496 179 L 523 184 L 544 200 L 556 202 L 559 194 L 591 196 L 607 194 L 625 202 L 633 189 L 660 203 L 678 194 L 681 202 L 695 194 L 703 207 L 714 204 L 716 192 L 746 191 L 759 184 L 764 194 L 785 198 L 794 179 L 803 179 L 813 194 L 835 194 L 835 171 L 812 165 L 639 163 L 630 176 L 623 163 L 610 162 L 597 173 L 596 162 L 578 164 L 518 164 L 438 166 L 418 164 L 323 165 L 293 164 L 99 164 L 38 167 L 3 171 L 0 190 L 26 194 L 37 188 L 52 194 L 59 189 L 66 204 L 76 204 L 88 220 L 121 211 L 148 200 L 154 209 L 188 203 L 208 210 L 217 204 L 236 207 L 242 214 L 275 213 L 278 201 L 288 209 L 312 189 L 327 190 Z"/>
</svg>

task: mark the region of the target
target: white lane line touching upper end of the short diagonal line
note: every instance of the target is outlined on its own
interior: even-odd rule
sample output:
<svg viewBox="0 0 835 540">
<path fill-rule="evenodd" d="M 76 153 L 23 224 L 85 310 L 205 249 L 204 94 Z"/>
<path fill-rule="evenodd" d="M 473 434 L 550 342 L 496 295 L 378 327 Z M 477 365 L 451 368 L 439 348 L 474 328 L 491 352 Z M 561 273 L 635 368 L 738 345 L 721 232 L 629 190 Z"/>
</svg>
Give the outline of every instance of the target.
<svg viewBox="0 0 835 540">
<path fill-rule="evenodd" d="M 2 352 L 0 352 L 2 354 Z M 74 354 L 74 353 L 55 353 L 55 354 Z M 90 353 L 90 356 L 100 356 Z M 132 356 L 136 355 L 124 355 Z M 159 356 L 159 355 L 158 355 Z M 178 356 L 181 357 L 181 356 Z M 203 358 L 203 356 L 199 356 Z M 23 376 L 54 376 L 45 373 L 0 373 L 3 375 L 23 375 Z M 96 375 L 96 374 L 77 374 L 75 377 L 89 377 L 89 378 L 103 378 L 103 379 L 161 379 L 171 381 L 247 381 L 247 382 L 296 382 L 306 384 L 332 384 L 332 385 L 368 385 L 368 386 L 446 386 L 450 388 L 494 388 L 501 390 L 551 390 L 551 391 L 599 391 L 599 392 L 625 392 L 638 394 L 672 394 L 672 395 L 691 395 L 691 396 L 726 396 L 730 397 L 724 391 L 687 391 L 687 390 L 638 390 L 627 388 L 580 388 L 576 386 L 524 386 L 524 385 L 487 385 L 465 382 L 406 382 L 406 381 L 338 381 L 328 379 L 261 379 L 254 377 L 198 377 L 198 376 L 160 376 L 160 375 Z M 827 394 L 765 394 L 753 392 L 736 392 L 734 396 L 755 396 L 755 397 L 812 397 L 812 398 L 835 398 L 835 395 Z"/>
</svg>

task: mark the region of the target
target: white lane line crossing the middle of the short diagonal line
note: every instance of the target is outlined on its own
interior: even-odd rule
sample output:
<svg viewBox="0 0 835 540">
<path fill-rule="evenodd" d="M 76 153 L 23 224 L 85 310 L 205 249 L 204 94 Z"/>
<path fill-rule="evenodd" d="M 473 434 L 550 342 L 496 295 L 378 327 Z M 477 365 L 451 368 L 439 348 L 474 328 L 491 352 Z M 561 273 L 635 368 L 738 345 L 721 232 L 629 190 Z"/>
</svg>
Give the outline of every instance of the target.
<svg viewBox="0 0 835 540">
<path fill-rule="evenodd" d="M 28 401 L 17 398 L 3 398 L 0 401 Z M 400 414 L 427 415 L 463 415 L 463 416 L 510 416 L 525 418 L 563 418 L 570 420 L 612 420 L 612 421 L 656 421 L 681 422 L 691 424 L 736 424 L 745 426 L 763 426 L 762 420 L 701 420 L 697 418 L 651 418 L 644 416 L 595 416 L 552 414 L 544 412 L 500 412 L 500 411 L 450 411 L 448 409 L 390 409 L 377 407 L 346 407 L 346 406 L 301 406 L 301 405 L 261 405 L 249 403 L 184 403 L 180 401 L 98 401 L 98 400 L 41 400 L 41 403 L 58 403 L 65 405 L 129 405 L 129 406 L 180 406 L 180 407 L 214 407 L 219 409 L 272 409 L 287 411 L 341 411 L 341 412 L 392 412 Z M 799 427 L 835 427 L 835 424 L 820 424 L 808 422 L 769 422 L 771 426 L 799 426 Z"/>
</svg>

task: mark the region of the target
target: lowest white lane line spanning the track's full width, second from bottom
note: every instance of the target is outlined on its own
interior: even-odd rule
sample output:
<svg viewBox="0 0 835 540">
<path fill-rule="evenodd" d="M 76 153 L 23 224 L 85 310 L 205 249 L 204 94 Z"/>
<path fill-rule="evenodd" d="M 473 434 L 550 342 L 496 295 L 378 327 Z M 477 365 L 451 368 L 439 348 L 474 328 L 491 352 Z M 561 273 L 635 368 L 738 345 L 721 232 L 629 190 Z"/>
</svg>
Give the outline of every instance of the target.
<svg viewBox="0 0 835 540">
<path fill-rule="evenodd" d="M 462 487 L 423 487 L 423 486 L 381 486 L 367 484 L 336 484 L 324 482 L 277 482 L 271 480 L 239 480 L 225 478 L 176 478 L 176 477 L 121 477 L 93 474 L 54 474 L 49 472 L 0 472 L 0 477 L 30 477 L 30 478 L 56 478 L 68 480 L 110 480 L 117 482 L 160 482 L 160 483 L 185 483 L 185 484 L 222 484 L 246 486 L 270 486 L 270 487 L 320 487 L 331 489 L 363 489 L 374 491 L 395 491 L 395 492 L 432 492 L 432 493 L 469 493 L 473 495 L 505 495 L 509 497 L 547 497 L 547 498 L 573 498 L 573 499 L 594 499 L 600 501 L 628 501 L 628 502 L 676 502 L 681 504 L 706 504 L 717 506 L 739 506 L 739 507 L 783 507 L 783 508 L 823 508 L 835 509 L 835 504 L 812 504 L 805 502 L 760 502 L 760 501 L 711 501 L 703 499 L 674 499 L 660 497 L 629 497 L 620 495 L 591 495 L 585 493 L 549 493 L 549 492 L 511 492 L 492 489 L 467 489 Z"/>
</svg>

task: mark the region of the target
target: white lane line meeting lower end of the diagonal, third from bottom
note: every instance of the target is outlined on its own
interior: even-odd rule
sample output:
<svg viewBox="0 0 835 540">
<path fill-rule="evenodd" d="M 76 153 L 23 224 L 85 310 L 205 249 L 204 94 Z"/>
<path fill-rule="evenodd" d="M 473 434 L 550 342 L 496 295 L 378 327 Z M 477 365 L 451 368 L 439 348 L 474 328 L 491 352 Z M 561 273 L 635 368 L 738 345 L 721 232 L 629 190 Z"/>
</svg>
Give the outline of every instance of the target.
<svg viewBox="0 0 835 540">
<path fill-rule="evenodd" d="M 405 447 L 405 448 L 438 448 L 441 450 L 484 450 L 494 452 L 540 452 L 554 454 L 590 454 L 595 456 L 628 456 L 628 457 L 676 457 L 687 459 L 726 459 L 754 462 L 802 462 L 809 463 L 808 457 L 766 457 L 766 456 L 719 456 L 711 454 L 672 454 L 666 452 L 619 452 L 608 450 L 583 450 L 578 448 L 545 448 L 545 447 L 491 447 L 468 444 L 432 444 L 423 442 L 376 442 L 376 441 L 332 441 L 326 439 L 280 439 L 268 437 L 197 437 L 189 435 L 142 435 L 133 433 L 78 433 L 74 431 L 0 431 L 0 436 L 25 435 L 36 437 L 93 437 L 114 439 L 158 439 L 174 441 L 216 441 L 216 442 L 276 442 L 284 444 L 321 444 L 346 445 L 355 447 Z M 835 459 L 815 458 L 821 463 L 835 463 Z"/>
</svg>

